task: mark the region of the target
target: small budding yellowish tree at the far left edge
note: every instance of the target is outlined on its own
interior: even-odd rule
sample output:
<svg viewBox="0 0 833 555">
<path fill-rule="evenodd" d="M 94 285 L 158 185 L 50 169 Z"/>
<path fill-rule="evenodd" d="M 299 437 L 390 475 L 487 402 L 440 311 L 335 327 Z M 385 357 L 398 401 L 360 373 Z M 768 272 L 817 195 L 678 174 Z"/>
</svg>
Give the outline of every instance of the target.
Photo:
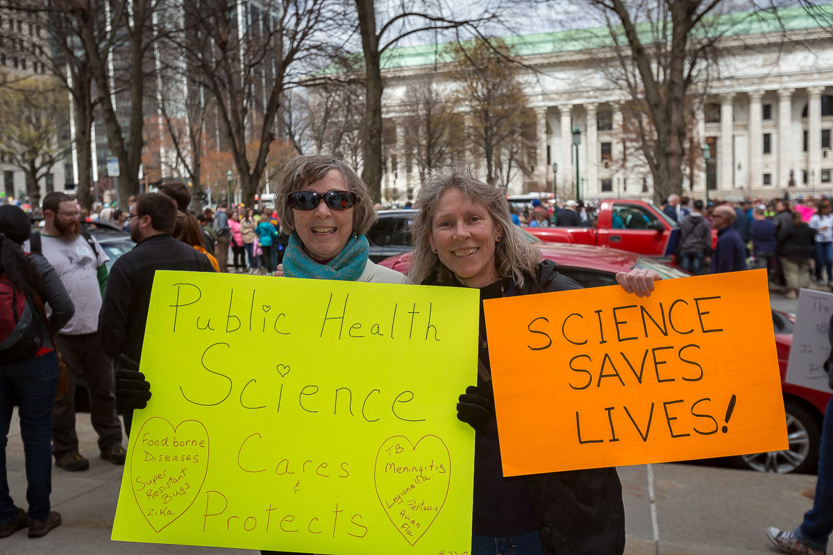
<svg viewBox="0 0 833 555">
<path fill-rule="evenodd" d="M 52 78 L 29 77 L 0 89 L 0 150 L 26 175 L 33 206 L 40 205 L 40 181 L 70 150 L 58 142 L 67 104 L 66 92 Z"/>
</svg>

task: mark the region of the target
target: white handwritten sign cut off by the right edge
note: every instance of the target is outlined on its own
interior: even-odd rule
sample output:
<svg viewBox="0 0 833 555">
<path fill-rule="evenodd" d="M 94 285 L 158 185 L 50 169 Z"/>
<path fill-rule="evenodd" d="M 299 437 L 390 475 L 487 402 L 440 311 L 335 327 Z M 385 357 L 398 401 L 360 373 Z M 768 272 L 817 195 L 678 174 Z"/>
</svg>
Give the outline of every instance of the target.
<svg viewBox="0 0 833 555">
<path fill-rule="evenodd" d="M 831 393 L 824 369 L 831 352 L 828 331 L 833 319 L 833 294 L 802 289 L 792 334 L 786 382 Z"/>
</svg>

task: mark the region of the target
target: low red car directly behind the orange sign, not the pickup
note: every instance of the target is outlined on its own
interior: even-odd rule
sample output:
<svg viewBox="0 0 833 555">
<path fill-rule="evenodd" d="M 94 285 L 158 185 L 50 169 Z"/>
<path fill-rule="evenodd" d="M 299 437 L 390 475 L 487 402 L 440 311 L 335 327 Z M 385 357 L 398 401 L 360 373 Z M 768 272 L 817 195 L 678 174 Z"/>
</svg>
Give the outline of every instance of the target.
<svg viewBox="0 0 833 555">
<path fill-rule="evenodd" d="M 616 272 L 629 271 L 637 266 L 656 270 L 666 280 L 688 276 L 685 272 L 656 259 L 625 250 L 592 245 L 542 243 L 534 237 L 531 240 L 541 250 L 544 258 L 556 261 L 562 274 L 585 287 L 616 285 Z M 380 264 L 404 273 L 408 269 L 410 260 L 411 253 L 408 252 L 382 260 Z M 795 321 L 795 315 L 779 310 L 772 311 L 790 448 L 784 451 L 733 457 L 733 462 L 742 468 L 770 473 L 801 473 L 816 470 L 821 442 L 821 421 L 831 394 L 787 384 L 784 381 L 787 362 L 790 359 Z"/>
</svg>

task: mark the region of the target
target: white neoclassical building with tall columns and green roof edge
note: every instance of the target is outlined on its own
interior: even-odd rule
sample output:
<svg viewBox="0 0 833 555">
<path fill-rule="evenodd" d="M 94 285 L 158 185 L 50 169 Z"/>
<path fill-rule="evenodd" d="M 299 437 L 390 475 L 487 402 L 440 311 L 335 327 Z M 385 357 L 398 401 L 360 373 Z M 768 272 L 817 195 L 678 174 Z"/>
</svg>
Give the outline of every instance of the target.
<svg viewBox="0 0 833 555">
<path fill-rule="evenodd" d="M 830 21 L 833 4 L 821 10 Z M 694 146 L 709 146 L 709 157 L 706 161 L 699 148 L 691 149 L 696 158 L 685 171 L 691 179 L 684 191 L 703 198 L 707 178 L 711 198 L 833 194 L 831 28 L 824 27 L 824 17 L 812 17 L 801 7 L 777 15 L 722 17 L 726 31 L 707 86 L 696 87 L 701 108 L 690 137 Z M 651 198 L 651 172 L 628 146 L 622 127 L 621 104 L 629 97 L 610 77 L 616 52 L 604 40 L 590 38 L 603 35 L 565 31 L 507 41 L 529 68 L 522 80 L 536 114 L 537 137 L 531 171 L 516 176 L 510 193 L 552 191 L 557 182 L 562 197 L 575 198 L 577 127 L 581 198 Z M 387 148 L 382 187 L 401 191 L 392 200 L 404 200 L 419 181 L 402 151 L 408 87 L 429 78 L 453 87 L 450 67 L 439 61 L 438 52 L 441 46 L 402 47 L 385 60 L 383 107 L 397 133 L 390 137 L 395 144 Z"/>
</svg>

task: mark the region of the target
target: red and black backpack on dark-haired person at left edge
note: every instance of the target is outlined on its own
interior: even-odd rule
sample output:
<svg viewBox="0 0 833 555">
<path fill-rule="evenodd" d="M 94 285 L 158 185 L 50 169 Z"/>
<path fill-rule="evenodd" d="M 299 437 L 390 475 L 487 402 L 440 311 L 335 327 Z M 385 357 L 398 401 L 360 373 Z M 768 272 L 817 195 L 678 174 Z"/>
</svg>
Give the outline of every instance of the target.
<svg viewBox="0 0 833 555">
<path fill-rule="evenodd" d="M 42 347 L 40 332 L 31 300 L 0 275 L 0 364 L 31 359 Z"/>
</svg>

